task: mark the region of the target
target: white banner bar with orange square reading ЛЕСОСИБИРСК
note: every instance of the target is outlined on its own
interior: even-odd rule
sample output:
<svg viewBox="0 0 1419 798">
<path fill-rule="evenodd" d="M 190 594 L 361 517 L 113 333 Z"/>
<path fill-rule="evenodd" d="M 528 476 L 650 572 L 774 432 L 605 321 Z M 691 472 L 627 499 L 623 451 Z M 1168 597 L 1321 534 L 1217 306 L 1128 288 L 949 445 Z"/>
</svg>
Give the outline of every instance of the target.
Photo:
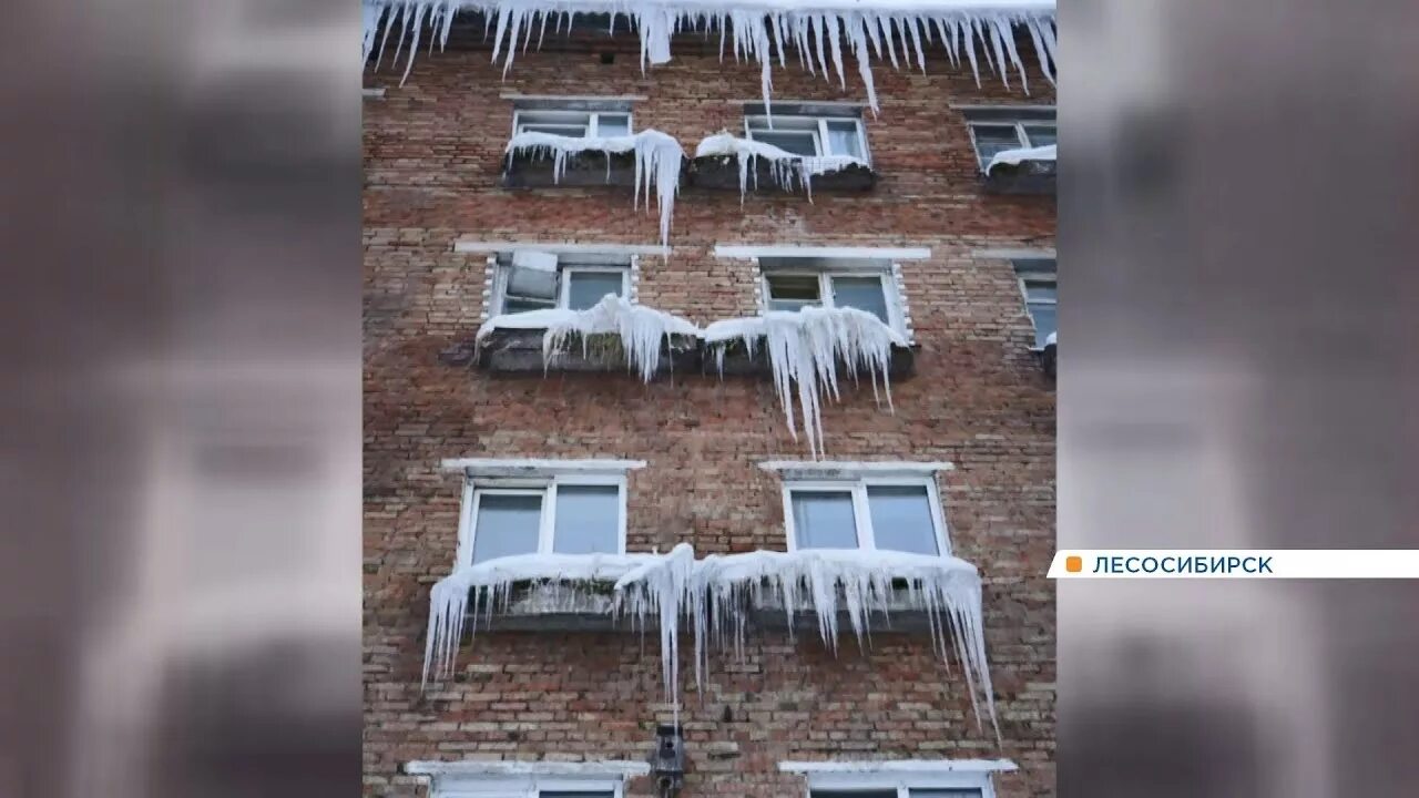
<svg viewBox="0 0 1419 798">
<path fill-rule="evenodd" d="M 1076 548 L 1050 564 L 1050 579 L 1415 579 L 1408 548 Z"/>
</svg>

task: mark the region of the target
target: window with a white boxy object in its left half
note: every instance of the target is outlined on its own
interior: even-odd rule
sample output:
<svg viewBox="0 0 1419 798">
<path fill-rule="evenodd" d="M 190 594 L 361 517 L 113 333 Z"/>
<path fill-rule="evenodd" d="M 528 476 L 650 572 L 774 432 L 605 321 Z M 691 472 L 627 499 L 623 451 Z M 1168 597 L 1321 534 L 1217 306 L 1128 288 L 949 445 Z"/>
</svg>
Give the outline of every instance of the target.
<svg viewBox="0 0 1419 798">
<path fill-rule="evenodd" d="M 499 314 L 585 311 L 606 294 L 630 295 L 630 267 L 616 258 L 518 251 L 499 271 Z"/>
</svg>

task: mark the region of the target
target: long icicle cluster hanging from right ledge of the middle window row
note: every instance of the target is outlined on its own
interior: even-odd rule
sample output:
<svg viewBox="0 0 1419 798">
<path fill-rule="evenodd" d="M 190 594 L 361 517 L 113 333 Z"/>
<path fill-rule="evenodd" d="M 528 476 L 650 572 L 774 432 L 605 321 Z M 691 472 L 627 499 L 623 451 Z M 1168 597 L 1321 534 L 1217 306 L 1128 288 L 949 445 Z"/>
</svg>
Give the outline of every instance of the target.
<svg viewBox="0 0 1419 798">
<path fill-rule="evenodd" d="M 761 345 L 769 358 L 773 389 L 779 395 L 789 433 L 797 440 L 797 419 L 793 412 L 793 386 L 807 436 L 809 453 L 823 456 L 823 396 L 839 399 L 837 364 L 847 368 L 857 381 L 866 371 L 873 383 L 873 396 L 880 402 L 885 393 L 891 408 L 891 348 L 907 341 L 876 315 L 857 308 L 815 308 L 799 311 L 769 311 L 762 317 L 717 321 L 705 328 L 704 341 L 714 349 L 715 365 L 724 373 L 724 355 L 729 344 L 739 341 L 752 355 Z M 883 392 L 877 381 L 881 378 Z"/>
</svg>

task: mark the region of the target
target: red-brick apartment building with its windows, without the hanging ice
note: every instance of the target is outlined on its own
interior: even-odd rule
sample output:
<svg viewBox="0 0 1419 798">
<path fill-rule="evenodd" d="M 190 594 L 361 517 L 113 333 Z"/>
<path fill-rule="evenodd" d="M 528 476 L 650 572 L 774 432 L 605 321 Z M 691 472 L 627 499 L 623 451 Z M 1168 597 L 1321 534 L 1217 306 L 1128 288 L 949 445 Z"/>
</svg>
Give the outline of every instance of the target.
<svg viewBox="0 0 1419 798">
<path fill-rule="evenodd" d="M 579 17 L 568 31 L 553 20 L 525 50 L 518 41 L 505 75 L 505 54 L 491 60 L 507 50 L 497 21 L 485 35 L 465 11 L 430 51 L 436 18 L 393 61 L 396 21 L 382 64 L 366 68 L 365 794 L 1051 795 L 1053 162 L 982 170 L 999 151 L 1053 143 L 1036 31 L 1007 28 L 1026 94 L 1015 67 L 1003 85 L 985 50 L 979 85 L 965 54 L 952 64 L 935 38 L 922 70 L 904 27 L 901 68 L 871 60 L 874 112 L 847 54 L 841 85 L 789 44 L 765 108 L 759 62 L 721 61 L 718 33 L 675 34 L 671 58 L 643 70 L 643 38 L 624 17 L 614 34 L 604 21 Z M 643 185 L 633 207 L 631 155 L 569 158 L 555 183 L 549 151 L 505 158 L 515 132 L 648 129 L 684 151 L 668 248 L 654 190 Z M 721 131 L 807 160 L 749 162 L 741 197 L 736 155 L 697 156 Z M 815 158 L 830 168 L 815 170 Z M 556 324 L 622 307 L 597 305 L 604 294 L 690 325 L 653 338 L 648 381 L 623 368 L 630 342 L 604 331 L 573 331 L 549 362 L 546 324 L 494 321 L 477 339 L 505 314 L 551 311 Z M 803 305 L 854 308 L 840 317 L 891 341 L 890 408 L 868 375 L 844 378 L 823 399 L 822 452 L 795 386 L 792 427 L 785 417 L 771 378 L 782 354 L 731 341 L 721 375 L 721 352 L 697 332 L 813 312 Z M 666 625 L 656 608 L 616 609 L 607 579 L 668 561 L 677 544 L 697 564 L 827 547 L 973 565 L 999 737 L 983 700 L 976 721 L 955 647 L 964 640 L 969 660 L 969 635 L 946 623 L 944 662 L 939 618 L 910 601 L 873 616 L 861 646 L 839 605 L 834 652 L 822 605 L 789 613 L 772 589 L 735 594 L 724 618 L 744 622 L 742 650 L 734 635 L 697 639 L 683 615 L 667 690 Z M 596 552 L 612 572 L 602 589 L 507 578 L 509 592 L 494 594 L 507 601 L 482 601 L 475 632 L 453 633 L 451 660 L 440 656 L 450 633 L 436 635 L 424 682 L 436 584 L 499 559 Z M 911 578 L 894 576 L 895 596 Z M 683 745 L 678 792 L 647 774 L 658 734 Z"/>
</svg>

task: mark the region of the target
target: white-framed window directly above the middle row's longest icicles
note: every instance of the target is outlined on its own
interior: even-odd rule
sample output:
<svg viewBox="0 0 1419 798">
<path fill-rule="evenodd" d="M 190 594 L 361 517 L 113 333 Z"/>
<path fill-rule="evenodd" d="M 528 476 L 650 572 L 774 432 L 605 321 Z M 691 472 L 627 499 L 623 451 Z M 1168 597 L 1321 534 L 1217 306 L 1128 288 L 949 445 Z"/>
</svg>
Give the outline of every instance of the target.
<svg viewBox="0 0 1419 798">
<path fill-rule="evenodd" d="M 857 308 L 902 331 L 897 285 L 881 264 L 832 264 L 819 258 L 759 258 L 765 308 L 799 311 L 806 307 Z"/>
</svg>

